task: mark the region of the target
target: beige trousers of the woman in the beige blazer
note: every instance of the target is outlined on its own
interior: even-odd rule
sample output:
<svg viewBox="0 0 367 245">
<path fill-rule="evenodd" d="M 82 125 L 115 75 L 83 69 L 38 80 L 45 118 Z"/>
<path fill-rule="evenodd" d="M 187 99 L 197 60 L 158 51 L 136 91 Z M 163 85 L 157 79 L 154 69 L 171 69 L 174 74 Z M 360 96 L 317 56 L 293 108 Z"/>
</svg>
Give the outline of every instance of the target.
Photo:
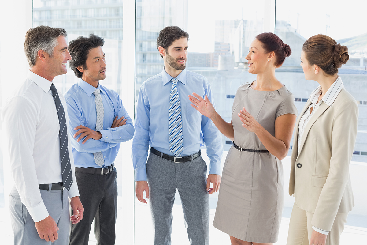
<svg viewBox="0 0 367 245">
<path fill-rule="evenodd" d="M 326 245 L 339 245 L 340 235 L 344 230 L 348 213 L 337 214 L 333 227 L 331 227 L 331 231 L 327 235 Z M 313 231 L 312 217 L 313 213 L 300 209 L 294 203 L 289 222 L 287 245 L 309 245 L 309 239 Z"/>
</svg>

